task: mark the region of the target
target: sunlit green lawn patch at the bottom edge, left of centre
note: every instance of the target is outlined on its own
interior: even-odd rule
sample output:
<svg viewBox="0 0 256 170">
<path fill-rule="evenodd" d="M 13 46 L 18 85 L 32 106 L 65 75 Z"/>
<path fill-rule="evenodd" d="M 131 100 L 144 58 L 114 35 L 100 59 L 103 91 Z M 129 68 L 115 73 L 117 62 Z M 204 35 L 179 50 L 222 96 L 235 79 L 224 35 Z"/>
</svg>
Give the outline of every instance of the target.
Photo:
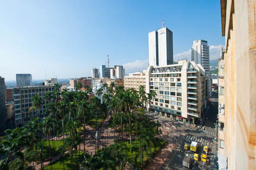
<svg viewBox="0 0 256 170">
<path fill-rule="evenodd" d="M 77 164 L 79 163 L 79 152 L 76 153 Z M 82 153 L 80 152 L 80 157 L 82 157 Z M 72 169 L 72 164 L 70 163 L 71 157 L 69 155 L 65 156 L 65 169 Z M 73 166 L 75 167 L 75 153 L 73 154 Z M 44 169 L 51 169 L 51 166 L 46 166 Z M 63 158 L 52 163 L 52 169 L 63 169 Z M 74 168 L 75 169 L 75 168 Z"/>
</svg>

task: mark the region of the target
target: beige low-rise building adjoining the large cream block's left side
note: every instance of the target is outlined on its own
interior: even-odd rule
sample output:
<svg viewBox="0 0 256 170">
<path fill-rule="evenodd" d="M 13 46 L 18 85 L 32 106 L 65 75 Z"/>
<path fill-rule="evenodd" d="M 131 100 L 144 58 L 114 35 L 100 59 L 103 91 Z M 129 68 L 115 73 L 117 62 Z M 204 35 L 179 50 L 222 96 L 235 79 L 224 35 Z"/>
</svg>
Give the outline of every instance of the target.
<svg viewBox="0 0 256 170">
<path fill-rule="evenodd" d="M 146 91 L 146 75 L 144 72 L 129 73 L 129 76 L 124 76 L 125 89 L 134 88 L 139 91 L 140 86 L 144 86 Z"/>
</svg>

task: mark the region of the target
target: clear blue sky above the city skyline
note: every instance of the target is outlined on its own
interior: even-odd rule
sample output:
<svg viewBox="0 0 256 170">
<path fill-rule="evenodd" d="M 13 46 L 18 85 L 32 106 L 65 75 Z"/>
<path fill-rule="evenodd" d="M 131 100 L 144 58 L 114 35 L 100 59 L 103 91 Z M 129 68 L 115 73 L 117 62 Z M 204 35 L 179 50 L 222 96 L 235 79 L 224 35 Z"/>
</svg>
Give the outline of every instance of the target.
<svg viewBox="0 0 256 170">
<path fill-rule="evenodd" d="M 190 60 L 198 39 L 208 41 L 211 60 L 219 58 L 220 1 L 2 1 L 0 76 L 91 76 L 107 55 L 110 66 L 141 71 L 148 66 L 148 32 L 160 28 L 162 19 L 173 32 L 174 61 Z"/>
</svg>

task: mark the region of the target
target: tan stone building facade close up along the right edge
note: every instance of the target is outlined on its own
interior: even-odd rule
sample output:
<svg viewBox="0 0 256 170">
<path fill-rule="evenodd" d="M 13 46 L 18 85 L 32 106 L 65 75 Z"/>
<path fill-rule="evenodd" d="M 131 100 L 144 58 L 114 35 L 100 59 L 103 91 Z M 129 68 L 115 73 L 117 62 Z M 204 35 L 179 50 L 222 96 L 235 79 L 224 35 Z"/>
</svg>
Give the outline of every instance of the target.
<svg viewBox="0 0 256 170">
<path fill-rule="evenodd" d="M 223 99 L 219 102 L 224 107 L 219 169 L 251 170 L 256 167 L 256 6 L 254 0 L 220 0 L 220 9 L 225 51 L 219 62 L 219 69 L 224 67 L 224 86 L 219 79 L 219 95 L 224 94 L 224 105 Z"/>
</svg>

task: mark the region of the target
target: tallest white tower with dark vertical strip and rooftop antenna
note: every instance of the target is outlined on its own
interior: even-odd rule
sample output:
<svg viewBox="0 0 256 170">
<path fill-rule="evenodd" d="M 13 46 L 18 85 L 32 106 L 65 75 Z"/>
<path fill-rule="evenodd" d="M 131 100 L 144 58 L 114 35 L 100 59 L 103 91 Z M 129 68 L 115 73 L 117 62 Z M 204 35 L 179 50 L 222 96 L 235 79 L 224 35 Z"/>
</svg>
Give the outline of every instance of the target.
<svg viewBox="0 0 256 170">
<path fill-rule="evenodd" d="M 148 33 L 149 66 L 173 64 L 172 31 L 167 27 Z"/>
</svg>

